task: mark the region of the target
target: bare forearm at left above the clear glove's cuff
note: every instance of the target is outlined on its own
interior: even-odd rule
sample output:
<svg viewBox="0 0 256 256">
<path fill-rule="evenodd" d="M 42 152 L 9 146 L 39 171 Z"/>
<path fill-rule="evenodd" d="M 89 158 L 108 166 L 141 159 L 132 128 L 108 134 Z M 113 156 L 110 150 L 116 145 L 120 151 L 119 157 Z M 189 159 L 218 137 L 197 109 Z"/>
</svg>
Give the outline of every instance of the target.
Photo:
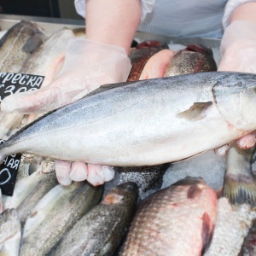
<svg viewBox="0 0 256 256">
<path fill-rule="evenodd" d="M 119 45 L 129 54 L 141 19 L 139 0 L 87 0 L 85 12 L 87 38 Z"/>
</svg>

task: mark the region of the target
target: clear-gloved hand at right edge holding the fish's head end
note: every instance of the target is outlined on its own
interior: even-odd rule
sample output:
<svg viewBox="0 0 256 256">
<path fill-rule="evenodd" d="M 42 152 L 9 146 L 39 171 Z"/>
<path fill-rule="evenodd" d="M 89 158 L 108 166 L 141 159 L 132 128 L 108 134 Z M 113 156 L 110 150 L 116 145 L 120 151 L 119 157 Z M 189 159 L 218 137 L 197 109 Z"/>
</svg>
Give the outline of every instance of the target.
<svg viewBox="0 0 256 256">
<path fill-rule="evenodd" d="M 224 31 L 220 50 L 222 60 L 218 71 L 256 73 L 256 24 L 233 21 Z M 250 148 L 256 142 L 256 132 L 241 137 L 236 141 L 240 148 Z"/>
</svg>

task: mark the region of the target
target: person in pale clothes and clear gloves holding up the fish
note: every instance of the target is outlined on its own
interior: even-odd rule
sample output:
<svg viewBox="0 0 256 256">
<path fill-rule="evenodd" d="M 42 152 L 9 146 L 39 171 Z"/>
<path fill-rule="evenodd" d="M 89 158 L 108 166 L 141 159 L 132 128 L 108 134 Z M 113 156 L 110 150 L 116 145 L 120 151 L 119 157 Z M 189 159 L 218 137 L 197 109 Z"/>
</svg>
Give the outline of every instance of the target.
<svg viewBox="0 0 256 256">
<path fill-rule="evenodd" d="M 127 55 L 140 25 L 146 32 L 178 37 L 215 37 L 221 41 L 218 71 L 256 73 L 256 1 L 216 0 L 76 0 L 79 14 L 86 17 L 86 39 L 67 45 L 58 78 L 46 89 L 6 97 L 5 112 L 37 113 L 59 108 L 96 90 L 101 84 L 123 82 L 131 62 Z M 255 135 L 238 142 L 247 148 Z M 63 185 L 87 179 L 97 185 L 113 178 L 110 166 L 56 160 L 58 180 Z"/>
</svg>

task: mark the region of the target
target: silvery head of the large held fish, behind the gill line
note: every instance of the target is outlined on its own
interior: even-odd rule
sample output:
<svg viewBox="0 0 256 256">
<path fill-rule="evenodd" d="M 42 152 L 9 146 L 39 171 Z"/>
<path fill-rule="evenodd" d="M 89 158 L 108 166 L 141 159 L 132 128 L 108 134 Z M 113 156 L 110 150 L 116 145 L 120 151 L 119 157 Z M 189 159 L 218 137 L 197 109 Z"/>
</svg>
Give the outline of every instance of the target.
<svg viewBox="0 0 256 256">
<path fill-rule="evenodd" d="M 229 73 L 212 88 L 221 116 L 236 129 L 256 129 L 256 75 Z"/>
</svg>

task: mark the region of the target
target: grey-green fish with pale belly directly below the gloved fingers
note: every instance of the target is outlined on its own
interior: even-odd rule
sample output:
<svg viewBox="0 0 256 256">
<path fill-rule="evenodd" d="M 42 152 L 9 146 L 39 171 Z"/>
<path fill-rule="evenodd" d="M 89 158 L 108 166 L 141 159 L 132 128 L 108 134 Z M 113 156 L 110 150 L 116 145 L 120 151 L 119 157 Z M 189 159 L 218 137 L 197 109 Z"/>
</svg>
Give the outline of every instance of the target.
<svg viewBox="0 0 256 256">
<path fill-rule="evenodd" d="M 20 256 L 49 253 L 73 224 L 102 198 L 102 186 L 72 183 L 50 189 L 26 219 L 21 237 Z"/>
</svg>

